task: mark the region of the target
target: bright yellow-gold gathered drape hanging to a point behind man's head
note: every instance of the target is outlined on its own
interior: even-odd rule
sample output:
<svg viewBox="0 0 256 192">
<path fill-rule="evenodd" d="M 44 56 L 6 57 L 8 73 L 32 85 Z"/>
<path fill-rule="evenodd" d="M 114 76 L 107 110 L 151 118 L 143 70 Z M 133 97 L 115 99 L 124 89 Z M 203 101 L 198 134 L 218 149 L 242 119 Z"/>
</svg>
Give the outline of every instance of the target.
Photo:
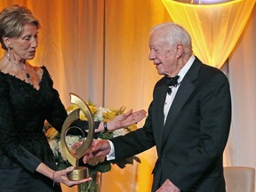
<svg viewBox="0 0 256 192">
<path fill-rule="evenodd" d="M 184 4 L 162 0 L 172 20 L 193 39 L 193 50 L 204 63 L 221 68 L 250 17 L 255 0 L 221 4 Z"/>
</svg>

